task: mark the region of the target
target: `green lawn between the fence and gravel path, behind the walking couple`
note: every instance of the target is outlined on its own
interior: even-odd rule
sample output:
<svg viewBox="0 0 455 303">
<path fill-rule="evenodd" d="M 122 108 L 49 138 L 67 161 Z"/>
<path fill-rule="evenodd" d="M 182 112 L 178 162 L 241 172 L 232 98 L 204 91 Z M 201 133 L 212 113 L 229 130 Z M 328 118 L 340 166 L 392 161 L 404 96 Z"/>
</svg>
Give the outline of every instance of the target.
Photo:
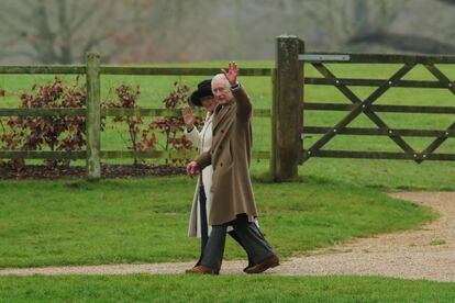
<svg viewBox="0 0 455 303">
<path fill-rule="evenodd" d="M 412 228 L 430 210 L 377 190 L 307 178 L 254 183 L 263 232 L 278 255 Z M 187 238 L 195 180 L 185 177 L 0 182 L 0 267 L 196 259 Z M 230 240 L 226 258 L 245 258 Z"/>
</svg>

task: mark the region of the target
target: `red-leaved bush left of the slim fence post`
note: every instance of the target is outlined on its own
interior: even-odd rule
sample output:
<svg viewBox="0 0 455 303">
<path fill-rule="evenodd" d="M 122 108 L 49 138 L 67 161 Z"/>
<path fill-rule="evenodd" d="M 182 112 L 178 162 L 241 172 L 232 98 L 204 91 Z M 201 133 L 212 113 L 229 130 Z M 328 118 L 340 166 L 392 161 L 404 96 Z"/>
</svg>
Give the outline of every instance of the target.
<svg viewBox="0 0 455 303">
<path fill-rule="evenodd" d="M 78 79 L 77 79 L 78 80 Z M 59 78 L 46 86 L 34 86 L 32 93 L 21 93 L 20 109 L 84 108 L 87 89 L 85 86 L 65 86 Z M 16 116 L 5 119 L 0 147 L 9 150 L 81 150 L 86 145 L 86 117 L 68 115 Z M 69 159 L 46 159 L 55 168 L 68 166 Z M 9 162 L 16 169 L 23 159 Z"/>
</svg>

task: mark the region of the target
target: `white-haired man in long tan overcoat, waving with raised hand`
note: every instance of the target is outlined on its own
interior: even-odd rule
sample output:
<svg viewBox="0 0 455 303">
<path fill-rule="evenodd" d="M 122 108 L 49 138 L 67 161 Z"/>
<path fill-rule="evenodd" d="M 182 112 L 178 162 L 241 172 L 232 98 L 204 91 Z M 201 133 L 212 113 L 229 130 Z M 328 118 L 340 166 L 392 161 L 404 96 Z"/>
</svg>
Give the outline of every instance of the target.
<svg viewBox="0 0 455 303">
<path fill-rule="evenodd" d="M 278 266 L 278 257 L 254 223 L 257 211 L 249 179 L 253 108 L 236 80 L 237 75 L 237 65 L 230 63 L 228 72 L 223 70 L 213 77 L 212 91 L 219 105 L 213 116 L 212 145 L 187 166 L 190 176 L 209 165 L 213 167 L 209 213 L 212 232 L 200 265 L 187 270 L 190 273 L 219 273 L 230 225 L 255 263 L 245 269 L 246 273 L 259 273 Z"/>
</svg>

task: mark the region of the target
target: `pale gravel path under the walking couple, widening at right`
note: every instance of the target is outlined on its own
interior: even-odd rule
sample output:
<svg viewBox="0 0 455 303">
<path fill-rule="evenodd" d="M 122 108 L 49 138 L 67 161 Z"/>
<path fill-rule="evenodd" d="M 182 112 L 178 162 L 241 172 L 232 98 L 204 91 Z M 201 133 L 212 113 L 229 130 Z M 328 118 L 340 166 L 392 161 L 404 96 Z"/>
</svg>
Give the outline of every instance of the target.
<svg viewBox="0 0 455 303">
<path fill-rule="evenodd" d="M 356 239 L 291 258 L 273 276 L 360 274 L 455 281 L 455 192 L 400 192 L 395 198 L 430 206 L 437 222 L 417 231 Z M 7 274 L 181 273 L 193 262 L 2 269 Z M 225 261 L 222 273 L 241 273 L 245 261 Z"/>
</svg>

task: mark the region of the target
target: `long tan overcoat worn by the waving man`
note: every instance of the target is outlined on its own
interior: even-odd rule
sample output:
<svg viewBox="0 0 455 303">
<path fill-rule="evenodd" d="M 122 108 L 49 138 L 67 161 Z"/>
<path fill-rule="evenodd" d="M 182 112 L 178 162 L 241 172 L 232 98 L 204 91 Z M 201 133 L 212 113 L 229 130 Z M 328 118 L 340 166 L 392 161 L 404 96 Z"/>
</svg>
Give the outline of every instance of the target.
<svg viewBox="0 0 455 303">
<path fill-rule="evenodd" d="M 210 225 L 228 223 L 237 214 L 257 216 L 249 179 L 252 103 L 243 88 L 232 93 L 234 100 L 215 109 L 210 150 L 196 159 L 200 169 L 213 167 Z"/>
</svg>

